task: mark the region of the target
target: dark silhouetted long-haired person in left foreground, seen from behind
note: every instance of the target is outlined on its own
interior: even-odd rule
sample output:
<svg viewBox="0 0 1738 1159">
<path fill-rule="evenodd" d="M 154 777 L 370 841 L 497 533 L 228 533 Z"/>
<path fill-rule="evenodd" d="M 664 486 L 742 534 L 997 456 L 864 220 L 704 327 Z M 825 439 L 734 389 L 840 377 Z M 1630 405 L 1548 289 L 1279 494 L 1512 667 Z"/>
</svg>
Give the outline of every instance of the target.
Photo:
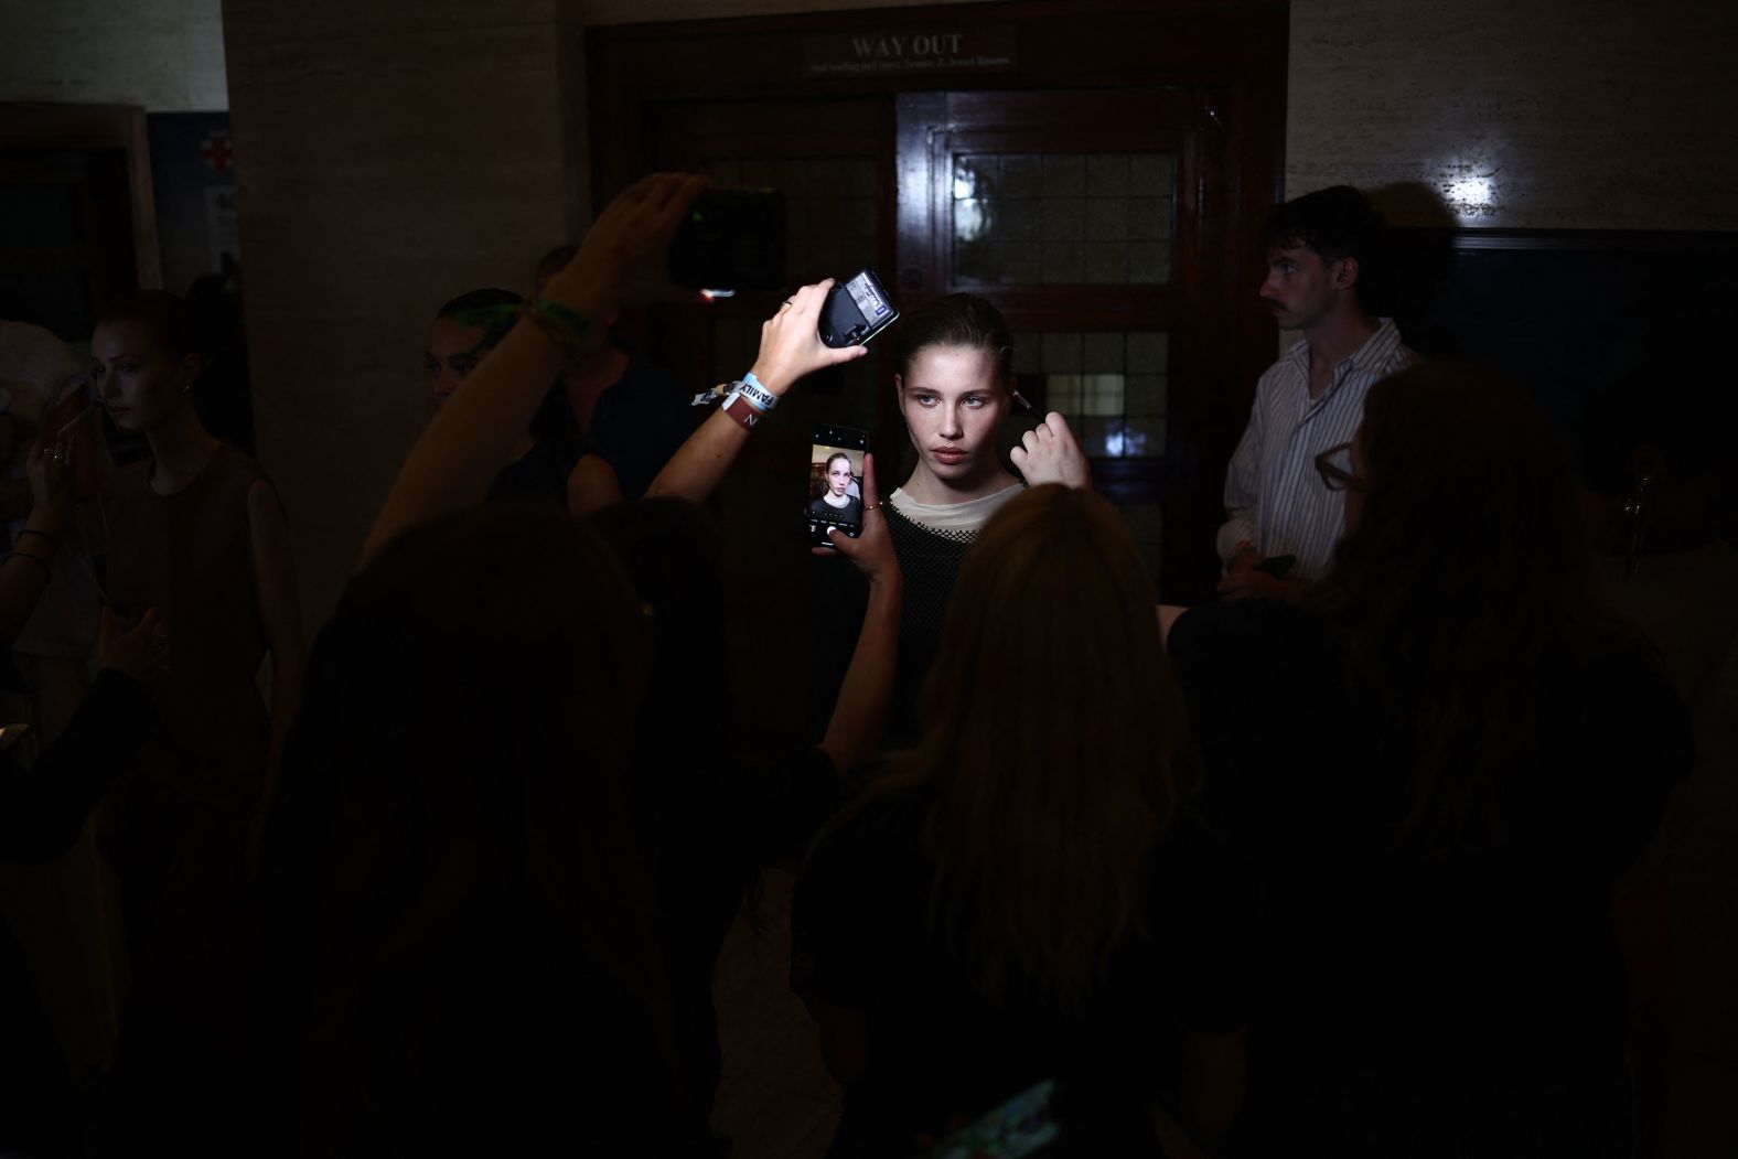
<svg viewBox="0 0 1738 1159">
<path fill-rule="evenodd" d="M 629 808 L 650 634 L 565 513 L 415 528 L 351 580 L 309 657 L 264 850 L 322 1145 L 367 1142 L 351 1121 L 429 1142 L 452 1089 L 476 1100 L 464 1121 L 535 1123 L 547 1076 L 617 1056 L 653 1058 L 622 1063 L 643 1098 L 674 1089 Z M 574 1058 L 506 1050 L 527 1018 Z"/>
</svg>

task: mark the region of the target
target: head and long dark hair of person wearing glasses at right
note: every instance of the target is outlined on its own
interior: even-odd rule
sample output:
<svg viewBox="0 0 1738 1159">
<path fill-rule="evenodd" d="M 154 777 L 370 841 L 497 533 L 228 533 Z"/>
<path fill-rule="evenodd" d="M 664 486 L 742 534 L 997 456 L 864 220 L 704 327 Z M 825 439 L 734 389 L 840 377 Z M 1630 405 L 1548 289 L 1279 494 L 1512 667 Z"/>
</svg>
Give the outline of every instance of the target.
<svg viewBox="0 0 1738 1159">
<path fill-rule="evenodd" d="M 1594 593 L 1562 441 L 1500 374 L 1423 363 L 1370 389 L 1356 452 L 1361 502 L 1310 599 L 1345 631 L 1371 735 L 1410 778 L 1404 839 L 1500 841 L 1542 690 L 1629 646 Z"/>
</svg>

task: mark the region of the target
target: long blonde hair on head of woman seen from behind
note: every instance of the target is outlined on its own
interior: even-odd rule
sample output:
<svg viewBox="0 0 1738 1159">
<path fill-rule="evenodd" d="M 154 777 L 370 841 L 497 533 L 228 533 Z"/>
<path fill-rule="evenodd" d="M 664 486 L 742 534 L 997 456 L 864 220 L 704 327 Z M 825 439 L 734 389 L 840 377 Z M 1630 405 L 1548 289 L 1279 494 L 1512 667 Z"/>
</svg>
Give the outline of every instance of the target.
<svg viewBox="0 0 1738 1159">
<path fill-rule="evenodd" d="M 991 996 L 1079 997 L 1137 921 L 1184 733 L 1151 593 L 1088 490 L 1034 487 L 966 553 L 905 782 L 933 794 L 937 907 Z"/>
</svg>

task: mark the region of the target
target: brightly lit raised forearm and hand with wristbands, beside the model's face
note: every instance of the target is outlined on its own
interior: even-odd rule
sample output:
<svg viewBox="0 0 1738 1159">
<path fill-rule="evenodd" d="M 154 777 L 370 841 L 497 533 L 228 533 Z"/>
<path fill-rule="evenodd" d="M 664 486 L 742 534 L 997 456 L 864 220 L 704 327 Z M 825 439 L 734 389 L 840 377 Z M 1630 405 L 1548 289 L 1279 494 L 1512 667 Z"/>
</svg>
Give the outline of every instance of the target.
<svg viewBox="0 0 1738 1159">
<path fill-rule="evenodd" d="M 782 398 L 806 374 L 869 353 L 866 346 L 834 349 L 820 341 L 820 308 L 831 288 L 833 278 L 805 285 L 779 308 L 779 313 L 761 323 L 760 354 L 754 358 L 751 374 L 773 396 Z M 749 403 L 739 401 L 735 407 L 742 408 Z M 718 490 L 744 443 L 749 441 L 749 431 L 760 422 L 763 412 L 749 408 L 739 410 L 739 414 L 747 422 L 726 414 L 725 407 L 713 412 L 652 480 L 647 499 L 674 497 L 706 502 Z"/>
</svg>

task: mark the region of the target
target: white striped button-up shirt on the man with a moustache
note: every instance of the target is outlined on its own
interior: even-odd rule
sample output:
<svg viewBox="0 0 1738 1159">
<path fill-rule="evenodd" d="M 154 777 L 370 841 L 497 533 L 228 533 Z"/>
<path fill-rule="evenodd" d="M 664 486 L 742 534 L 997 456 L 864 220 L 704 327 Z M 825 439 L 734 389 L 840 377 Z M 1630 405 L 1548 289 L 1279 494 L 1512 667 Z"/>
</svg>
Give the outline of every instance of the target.
<svg viewBox="0 0 1738 1159">
<path fill-rule="evenodd" d="M 1231 563 L 1239 544 L 1264 556 L 1297 556 L 1290 575 L 1328 570 L 1345 530 L 1345 492 L 1328 490 L 1316 455 L 1352 441 L 1364 417 L 1364 394 L 1416 361 L 1383 318 L 1357 351 L 1333 368 L 1321 398 L 1309 396 L 1309 342 L 1298 342 L 1255 386 L 1255 408 L 1225 471 L 1225 516 L 1218 558 Z"/>
</svg>

